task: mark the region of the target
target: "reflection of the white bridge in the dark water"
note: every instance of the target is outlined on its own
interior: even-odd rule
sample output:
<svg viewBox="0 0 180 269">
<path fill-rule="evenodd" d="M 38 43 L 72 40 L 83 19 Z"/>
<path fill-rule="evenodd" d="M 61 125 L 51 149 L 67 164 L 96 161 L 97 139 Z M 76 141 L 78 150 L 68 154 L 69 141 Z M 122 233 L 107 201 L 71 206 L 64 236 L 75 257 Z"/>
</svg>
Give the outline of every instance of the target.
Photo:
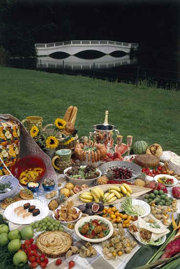
<svg viewBox="0 0 180 269">
<path fill-rule="evenodd" d="M 49 56 L 37 58 L 37 69 L 64 69 L 67 70 L 85 70 L 85 69 L 109 69 L 113 67 L 135 65 L 137 59 L 130 59 L 130 55 L 127 54 L 123 57 L 112 57 L 111 55 L 105 55 L 96 59 L 82 59 L 76 56 L 69 56 L 64 59 L 54 59 Z"/>
</svg>

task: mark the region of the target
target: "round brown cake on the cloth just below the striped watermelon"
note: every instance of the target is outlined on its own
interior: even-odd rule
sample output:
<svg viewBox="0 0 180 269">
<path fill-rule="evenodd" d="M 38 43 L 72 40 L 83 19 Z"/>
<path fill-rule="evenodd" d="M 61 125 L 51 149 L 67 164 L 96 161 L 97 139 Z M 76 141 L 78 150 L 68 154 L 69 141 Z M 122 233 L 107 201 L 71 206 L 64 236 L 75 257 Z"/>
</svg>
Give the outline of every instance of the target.
<svg viewBox="0 0 180 269">
<path fill-rule="evenodd" d="M 136 155 L 135 163 L 142 167 L 156 167 L 159 164 L 159 158 L 154 155 Z"/>
</svg>

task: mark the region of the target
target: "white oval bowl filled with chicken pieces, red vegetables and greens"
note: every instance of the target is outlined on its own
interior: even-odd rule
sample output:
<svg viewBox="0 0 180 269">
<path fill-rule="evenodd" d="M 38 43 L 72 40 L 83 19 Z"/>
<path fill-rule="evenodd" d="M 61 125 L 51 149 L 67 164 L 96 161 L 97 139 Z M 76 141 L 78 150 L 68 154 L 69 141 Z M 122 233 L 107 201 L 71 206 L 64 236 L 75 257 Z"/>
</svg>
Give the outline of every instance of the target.
<svg viewBox="0 0 180 269">
<path fill-rule="evenodd" d="M 88 216 L 80 219 L 75 224 L 76 234 L 85 241 L 100 243 L 113 234 L 112 223 L 100 216 Z"/>
</svg>

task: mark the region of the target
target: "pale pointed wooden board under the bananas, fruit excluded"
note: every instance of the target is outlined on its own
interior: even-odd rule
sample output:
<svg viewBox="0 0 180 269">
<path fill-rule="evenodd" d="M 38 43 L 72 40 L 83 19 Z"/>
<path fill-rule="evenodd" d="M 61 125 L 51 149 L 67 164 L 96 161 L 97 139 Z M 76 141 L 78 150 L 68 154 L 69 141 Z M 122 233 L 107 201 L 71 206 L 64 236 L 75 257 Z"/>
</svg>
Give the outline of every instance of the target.
<svg viewBox="0 0 180 269">
<path fill-rule="evenodd" d="M 90 189 L 93 189 L 95 187 L 98 187 L 98 188 L 102 189 L 104 191 L 104 193 L 105 193 L 109 189 L 109 187 L 112 187 L 112 186 L 118 186 L 119 187 L 121 185 L 122 184 L 104 184 L 104 185 L 98 185 L 98 186 L 90 187 L 88 189 L 85 189 L 83 191 L 80 191 L 80 192 L 74 194 L 72 197 L 68 198 L 68 201 L 73 201 L 74 206 L 78 206 L 80 204 L 85 204 L 85 202 L 82 202 L 80 200 L 80 198 L 79 198 L 80 194 L 82 194 L 84 192 L 89 192 Z M 130 187 L 132 188 L 132 191 L 133 191 L 132 194 L 131 194 L 132 198 L 137 198 L 138 196 L 141 196 L 142 194 L 147 193 L 147 192 L 152 190 L 150 188 L 144 188 L 144 187 L 139 187 L 139 186 L 135 186 L 135 185 L 130 185 Z M 126 197 L 125 194 L 124 194 L 124 197 Z M 105 205 L 122 202 L 124 200 L 124 197 L 122 197 L 121 199 L 117 199 L 114 202 L 106 203 Z M 92 201 L 92 202 L 95 203 L 95 201 Z M 102 202 L 102 201 L 99 201 L 99 202 Z"/>
</svg>

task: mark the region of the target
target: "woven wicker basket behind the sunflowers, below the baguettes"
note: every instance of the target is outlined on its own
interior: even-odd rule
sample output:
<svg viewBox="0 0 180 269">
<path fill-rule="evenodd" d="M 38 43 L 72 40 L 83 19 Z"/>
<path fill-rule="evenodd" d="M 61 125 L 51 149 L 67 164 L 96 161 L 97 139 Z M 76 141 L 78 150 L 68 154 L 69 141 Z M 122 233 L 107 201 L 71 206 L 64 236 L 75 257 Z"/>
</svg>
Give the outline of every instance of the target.
<svg viewBox="0 0 180 269">
<path fill-rule="evenodd" d="M 54 124 L 47 124 L 44 128 L 43 128 L 43 132 L 47 133 L 48 135 L 54 135 L 54 130 L 52 128 L 49 127 L 54 127 Z M 67 137 L 66 134 L 61 133 L 60 131 L 57 132 L 58 134 L 58 141 L 59 141 L 59 145 L 57 146 L 56 150 L 61 150 L 61 149 L 67 149 L 67 150 L 71 150 L 72 154 L 74 151 L 74 148 L 77 144 L 77 140 L 78 140 L 78 135 L 76 134 L 74 136 L 74 140 L 71 141 L 68 145 L 65 145 L 64 143 L 64 139 Z"/>
</svg>

